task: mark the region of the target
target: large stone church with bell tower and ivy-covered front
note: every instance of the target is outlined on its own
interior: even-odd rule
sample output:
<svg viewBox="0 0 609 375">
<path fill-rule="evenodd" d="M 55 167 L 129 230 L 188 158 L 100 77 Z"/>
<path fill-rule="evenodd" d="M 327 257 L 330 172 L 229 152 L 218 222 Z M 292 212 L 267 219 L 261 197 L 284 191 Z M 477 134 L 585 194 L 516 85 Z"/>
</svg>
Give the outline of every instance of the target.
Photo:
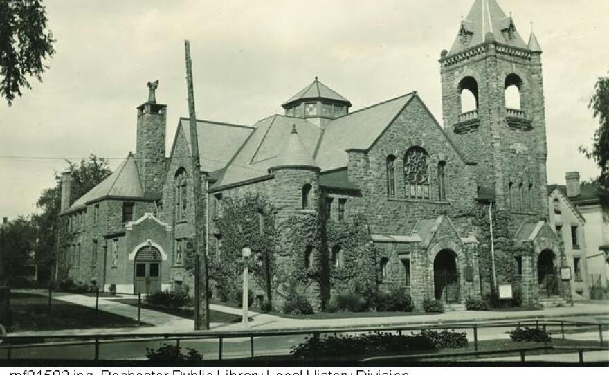
<svg viewBox="0 0 609 375">
<path fill-rule="evenodd" d="M 137 107 L 135 154 L 74 202 L 63 176 L 69 277 L 118 293 L 194 290 L 184 268 L 193 199 L 206 208 L 213 257 L 222 244 L 214 228 L 222 200 L 260 192 L 280 207 L 280 221 L 302 210 L 319 212 L 325 225 L 363 218 L 379 283 L 406 287 L 417 308 L 426 299 L 480 298 L 489 229 L 467 213 L 493 205 L 510 213 L 522 303 L 536 304 L 549 284 L 568 300 L 570 288 L 557 279 L 563 245 L 547 224 L 540 45 L 533 33 L 522 39 L 496 0 L 475 0 L 457 31 L 439 57 L 443 125 L 417 91 L 352 110 L 316 77 L 281 104 L 282 114 L 253 125 L 197 120 L 197 198 L 188 118 L 179 119 L 165 150 L 167 107 L 153 87 Z M 516 104 L 507 105 L 510 92 Z M 349 248 L 325 250 L 331 267 L 349 266 L 342 262 Z"/>
</svg>

